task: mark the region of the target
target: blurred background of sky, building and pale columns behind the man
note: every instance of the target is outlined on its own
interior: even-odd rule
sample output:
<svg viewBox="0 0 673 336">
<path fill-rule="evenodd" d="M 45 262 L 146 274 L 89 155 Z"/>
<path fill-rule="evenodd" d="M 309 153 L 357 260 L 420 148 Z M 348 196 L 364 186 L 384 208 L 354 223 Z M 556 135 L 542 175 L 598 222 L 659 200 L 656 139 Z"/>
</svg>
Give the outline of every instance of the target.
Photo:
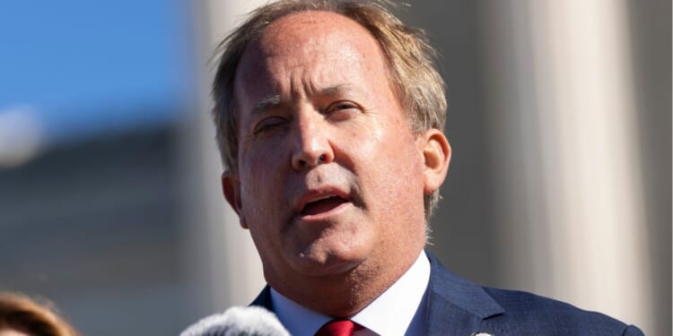
<svg viewBox="0 0 673 336">
<path fill-rule="evenodd" d="M 225 206 L 214 46 L 262 3 L 0 3 L 0 290 L 170 335 L 264 285 Z M 492 287 L 671 334 L 671 3 L 417 2 L 453 147 L 430 247 Z"/>
</svg>

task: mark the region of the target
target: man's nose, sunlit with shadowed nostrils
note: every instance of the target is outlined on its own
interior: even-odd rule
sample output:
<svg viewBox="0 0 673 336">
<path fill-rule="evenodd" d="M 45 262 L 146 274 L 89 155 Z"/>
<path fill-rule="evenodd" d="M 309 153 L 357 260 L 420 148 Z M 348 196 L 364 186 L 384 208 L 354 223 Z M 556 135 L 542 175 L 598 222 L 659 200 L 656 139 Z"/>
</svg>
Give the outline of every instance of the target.
<svg viewBox="0 0 673 336">
<path fill-rule="evenodd" d="M 293 148 L 293 168 L 302 170 L 333 160 L 334 151 L 326 127 L 319 120 L 301 120 Z"/>
</svg>

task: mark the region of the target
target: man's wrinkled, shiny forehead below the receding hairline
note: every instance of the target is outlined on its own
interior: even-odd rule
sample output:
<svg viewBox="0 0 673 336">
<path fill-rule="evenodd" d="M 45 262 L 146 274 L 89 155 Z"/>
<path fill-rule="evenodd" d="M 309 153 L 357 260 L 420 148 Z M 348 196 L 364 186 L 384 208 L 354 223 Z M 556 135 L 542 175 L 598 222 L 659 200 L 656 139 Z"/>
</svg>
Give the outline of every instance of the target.
<svg viewBox="0 0 673 336">
<path fill-rule="evenodd" d="M 387 72 L 379 42 L 362 25 L 338 13 L 288 14 L 246 47 L 237 68 L 235 94 L 239 96 L 242 83 L 273 83 L 271 72 L 278 76 L 294 67 L 339 72 L 353 66 Z"/>
</svg>

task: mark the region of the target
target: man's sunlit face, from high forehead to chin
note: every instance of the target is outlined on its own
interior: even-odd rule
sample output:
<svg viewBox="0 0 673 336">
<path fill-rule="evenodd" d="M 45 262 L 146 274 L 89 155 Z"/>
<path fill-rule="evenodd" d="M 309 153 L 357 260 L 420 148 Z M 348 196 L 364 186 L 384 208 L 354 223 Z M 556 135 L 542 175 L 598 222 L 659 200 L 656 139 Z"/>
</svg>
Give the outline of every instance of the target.
<svg viewBox="0 0 673 336">
<path fill-rule="evenodd" d="M 244 53 L 238 174 L 223 186 L 275 289 L 400 273 L 423 248 L 425 141 L 388 77 L 376 40 L 335 13 L 285 16 Z"/>
</svg>

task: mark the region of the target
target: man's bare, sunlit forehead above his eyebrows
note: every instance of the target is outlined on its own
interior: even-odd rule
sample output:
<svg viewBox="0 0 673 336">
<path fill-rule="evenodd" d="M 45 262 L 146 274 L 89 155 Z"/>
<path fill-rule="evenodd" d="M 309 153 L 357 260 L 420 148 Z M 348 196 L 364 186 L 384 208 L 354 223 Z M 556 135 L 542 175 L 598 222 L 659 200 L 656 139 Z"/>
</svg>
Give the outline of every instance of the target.
<svg viewBox="0 0 673 336">
<path fill-rule="evenodd" d="M 365 78 L 387 83 L 386 74 L 380 45 L 362 25 L 337 13 L 306 11 L 272 22 L 249 44 L 237 69 L 235 94 L 240 99 L 250 90 L 277 91 L 294 80 L 329 86 Z"/>
</svg>

